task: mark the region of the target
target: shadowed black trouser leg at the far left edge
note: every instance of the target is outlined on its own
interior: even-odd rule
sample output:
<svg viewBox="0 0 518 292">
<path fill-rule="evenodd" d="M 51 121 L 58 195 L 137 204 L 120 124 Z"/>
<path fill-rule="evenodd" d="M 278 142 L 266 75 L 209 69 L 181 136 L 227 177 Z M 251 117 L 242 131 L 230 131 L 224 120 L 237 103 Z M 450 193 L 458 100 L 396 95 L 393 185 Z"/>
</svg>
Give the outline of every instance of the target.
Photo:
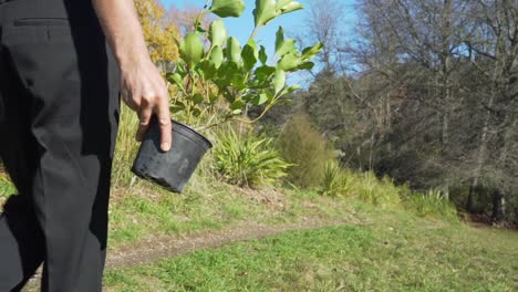
<svg viewBox="0 0 518 292">
<path fill-rule="evenodd" d="M 32 208 L 38 150 L 28 111 L 21 111 L 29 98 L 8 62 L 0 48 L 0 158 L 19 190 L 0 215 L 0 291 L 19 291 L 43 260 L 44 239 Z"/>
</svg>

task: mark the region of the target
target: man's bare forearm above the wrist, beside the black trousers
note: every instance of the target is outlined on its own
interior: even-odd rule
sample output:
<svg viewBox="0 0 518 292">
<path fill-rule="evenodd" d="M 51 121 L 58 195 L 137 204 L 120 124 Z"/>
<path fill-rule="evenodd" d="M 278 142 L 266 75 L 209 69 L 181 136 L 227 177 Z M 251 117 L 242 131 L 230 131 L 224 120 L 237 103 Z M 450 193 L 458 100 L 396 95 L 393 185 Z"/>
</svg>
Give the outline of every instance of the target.
<svg viewBox="0 0 518 292">
<path fill-rule="evenodd" d="M 92 3 L 121 67 L 149 58 L 133 0 L 92 0 Z"/>
</svg>

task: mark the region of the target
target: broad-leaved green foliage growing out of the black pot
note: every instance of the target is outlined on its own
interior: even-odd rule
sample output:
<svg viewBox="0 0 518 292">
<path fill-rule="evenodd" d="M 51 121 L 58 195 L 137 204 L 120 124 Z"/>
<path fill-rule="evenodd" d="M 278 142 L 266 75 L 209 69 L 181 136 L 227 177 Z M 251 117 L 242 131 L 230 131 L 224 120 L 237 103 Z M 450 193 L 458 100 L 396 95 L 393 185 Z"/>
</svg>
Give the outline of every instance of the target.
<svg viewBox="0 0 518 292">
<path fill-rule="evenodd" d="M 236 38 L 228 36 L 222 20 L 213 21 L 208 30 L 200 25 L 208 13 L 220 18 L 240 17 L 244 9 L 242 0 L 207 0 L 196 18 L 195 31 L 178 41 L 180 58 L 175 71 L 166 74 L 176 91 L 172 112 L 183 113 L 186 123 L 196 129 L 231 119 L 252 123 L 261 118 L 281 102 L 282 96 L 299 88 L 287 85 L 287 73 L 311 69 L 310 60 L 322 49 L 322 44 L 317 43 L 299 51 L 296 41 L 284 39 L 283 30 L 279 28 L 274 64 L 270 65 L 266 48 L 256 43 L 257 32 L 271 20 L 302 9 L 293 0 L 256 0 L 255 28 L 242 46 Z M 204 45 L 203 40 L 208 40 L 208 44 Z M 263 105 L 265 109 L 253 121 L 239 118 L 249 105 Z"/>
</svg>

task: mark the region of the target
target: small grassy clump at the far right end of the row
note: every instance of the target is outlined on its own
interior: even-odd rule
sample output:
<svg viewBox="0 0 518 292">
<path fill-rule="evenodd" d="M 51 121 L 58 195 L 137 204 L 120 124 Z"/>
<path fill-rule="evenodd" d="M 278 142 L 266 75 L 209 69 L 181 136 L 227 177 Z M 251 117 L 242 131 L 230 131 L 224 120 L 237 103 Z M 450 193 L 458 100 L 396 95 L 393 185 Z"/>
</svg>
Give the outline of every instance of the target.
<svg viewBox="0 0 518 292">
<path fill-rule="evenodd" d="M 419 217 L 435 217 L 447 220 L 458 220 L 455 205 L 441 190 L 428 190 L 428 192 L 416 192 L 405 197 L 406 209 Z"/>
</svg>

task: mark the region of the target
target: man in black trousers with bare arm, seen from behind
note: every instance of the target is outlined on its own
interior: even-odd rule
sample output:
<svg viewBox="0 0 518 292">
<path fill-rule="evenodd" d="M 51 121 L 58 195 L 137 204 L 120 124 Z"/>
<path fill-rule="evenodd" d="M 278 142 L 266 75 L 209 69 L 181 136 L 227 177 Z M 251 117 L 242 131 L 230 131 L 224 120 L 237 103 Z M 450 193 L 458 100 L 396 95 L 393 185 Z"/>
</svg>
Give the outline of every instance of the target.
<svg viewBox="0 0 518 292">
<path fill-rule="evenodd" d="M 165 82 L 132 0 L 0 0 L 0 292 L 101 291 L 118 94 L 172 143 Z"/>
</svg>

